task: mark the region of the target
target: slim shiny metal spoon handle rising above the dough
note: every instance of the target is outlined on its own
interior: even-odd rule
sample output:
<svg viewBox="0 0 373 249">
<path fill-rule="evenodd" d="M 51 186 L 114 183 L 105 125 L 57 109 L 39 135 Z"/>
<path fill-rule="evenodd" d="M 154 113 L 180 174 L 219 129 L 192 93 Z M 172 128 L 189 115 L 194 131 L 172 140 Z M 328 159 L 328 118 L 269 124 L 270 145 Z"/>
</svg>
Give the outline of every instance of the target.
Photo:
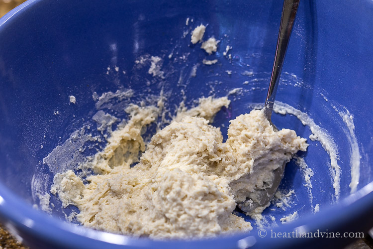
<svg viewBox="0 0 373 249">
<path fill-rule="evenodd" d="M 281 14 L 279 38 L 277 40 L 275 62 L 272 68 L 271 82 L 268 88 L 265 102 L 265 114 L 268 120 L 271 120 L 272 109 L 275 102 L 277 86 L 279 85 L 281 69 L 287 45 L 289 43 L 291 29 L 294 24 L 296 11 L 298 10 L 299 0 L 284 0 Z"/>
</svg>

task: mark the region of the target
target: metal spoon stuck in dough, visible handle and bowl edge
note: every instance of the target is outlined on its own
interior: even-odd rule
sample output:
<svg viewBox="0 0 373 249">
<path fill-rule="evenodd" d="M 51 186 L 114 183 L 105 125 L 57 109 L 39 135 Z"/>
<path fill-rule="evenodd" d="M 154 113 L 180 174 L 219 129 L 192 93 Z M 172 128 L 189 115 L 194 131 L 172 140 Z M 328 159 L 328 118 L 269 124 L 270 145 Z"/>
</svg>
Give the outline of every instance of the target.
<svg viewBox="0 0 373 249">
<path fill-rule="evenodd" d="M 284 0 L 282 6 L 281 22 L 279 37 L 277 40 L 275 62 L 272 68 L 271 82 L 268 88 L 267 98 L 265 102 L 264 114 L 267 120 L 272 124 L 275 131 L 279 129 L 272 123 L 271 116 L 272 110 L 275 102 L 275 96 L 277 91 L 277 86 L 280 80 L 281 69 L 283 61 L 285 59 L 285 54 L 287 50 L 287 45 L 289 43 L 291 30 L 294 24 L 296 11 L 298 10 L 299 0 Z M 260 190 L 257 193 L 259 198 L 256 201 L 251 198 L 247 198 L 246 201 L 238 203 L 237 206 L 245 213 L 250 213 L 258 207 L 266 206 L 275 195 L 275 192 L 279 188 L 280 182 L 283 177 L 283 172 L 285 170 L 285 163 L 283 163 L 279 168 L 274 171 L 274 180 L 272 187 Z"/>
</svg>

